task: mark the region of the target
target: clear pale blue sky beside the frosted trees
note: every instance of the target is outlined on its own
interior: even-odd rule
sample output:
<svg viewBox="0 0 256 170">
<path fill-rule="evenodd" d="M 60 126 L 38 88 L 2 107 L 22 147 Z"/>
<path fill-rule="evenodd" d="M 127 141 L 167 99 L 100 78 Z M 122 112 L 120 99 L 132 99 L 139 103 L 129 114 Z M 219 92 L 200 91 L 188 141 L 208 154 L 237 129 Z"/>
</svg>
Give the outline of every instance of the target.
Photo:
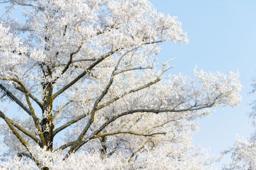
<svg viewBox="0 0 256 170">
<path fill-rule="evenodd" d="M 192 76 L 197 65 L 205 71 L 239 72 L 244 88 L 243 102 L 239 107 L 217 108 L 212 116 L 198 120 L 200 131 L 194 137 L 194 144 L 211 148 L 209 154 L 220 155 L 220 151 L 233 145 L 235 135 L 248 138 L 253 131 L 246 113 L 251 112 L 256 96 L 247 95 L 252 90 L 252 78 L 256 76 L 256 1 L 191 1 L 191 0 L 149 0 L 158 12 L 178 16 L 182 28 L 188 33 L 189 43 L 179 45 L 163 44 L 159 62 L 177 58 L 171 74 L 182 72 Z M 4 10 L 0 4 L 0 14 Z M 228 158 L 213 169 L 228 163 Z"/>
</svg>

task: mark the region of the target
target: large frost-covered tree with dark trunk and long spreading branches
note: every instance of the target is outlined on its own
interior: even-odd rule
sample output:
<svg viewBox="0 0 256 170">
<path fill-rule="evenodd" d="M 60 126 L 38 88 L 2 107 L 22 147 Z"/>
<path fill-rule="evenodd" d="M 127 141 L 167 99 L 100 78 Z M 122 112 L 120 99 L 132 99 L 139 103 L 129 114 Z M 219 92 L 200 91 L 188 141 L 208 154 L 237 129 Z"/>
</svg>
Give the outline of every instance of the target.
<svg viewBox="0 0 256 170">
<path fill-rule="evenodd" d="M 195 119 L 237 106 L 241 84 L 233 72 L 167 75 L 172 59 L 157 69 L 161 43 L 188 42 L 177 18 L 146 0 L 0 2 L 3 160 L 49 169 L 81 151 L 138 168 L 150 155 L 179 166 L 200 153 L 193 166 L 210 164 L 191 146 Z M 16 6 L 23 23 L 11 18 Z"/>
</svg>

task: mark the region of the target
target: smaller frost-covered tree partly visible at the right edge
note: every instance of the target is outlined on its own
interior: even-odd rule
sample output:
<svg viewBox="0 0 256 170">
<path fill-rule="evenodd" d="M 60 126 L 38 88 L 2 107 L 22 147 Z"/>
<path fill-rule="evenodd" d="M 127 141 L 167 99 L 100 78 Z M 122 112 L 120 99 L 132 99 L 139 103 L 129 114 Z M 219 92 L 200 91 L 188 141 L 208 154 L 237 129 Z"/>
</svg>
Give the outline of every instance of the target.
<svg viewBox="0 0 256 170">
<path fill-rule="evenodd" d="M 256 92 L 256 79 L 252 83 L 251 94 Z M 256 100 L 252 102 L 252 112 L 249 117 L 252 118 L 252 125 L 256 127 Z M 231 154 L 232 162 L 223 165 L 223 169 L 256 169 L 256 131 L 251 134 L 249 139 L 237 136 L 237 139 L 229 149 L 222 152 L 222 155 Z"/>
</svg>

